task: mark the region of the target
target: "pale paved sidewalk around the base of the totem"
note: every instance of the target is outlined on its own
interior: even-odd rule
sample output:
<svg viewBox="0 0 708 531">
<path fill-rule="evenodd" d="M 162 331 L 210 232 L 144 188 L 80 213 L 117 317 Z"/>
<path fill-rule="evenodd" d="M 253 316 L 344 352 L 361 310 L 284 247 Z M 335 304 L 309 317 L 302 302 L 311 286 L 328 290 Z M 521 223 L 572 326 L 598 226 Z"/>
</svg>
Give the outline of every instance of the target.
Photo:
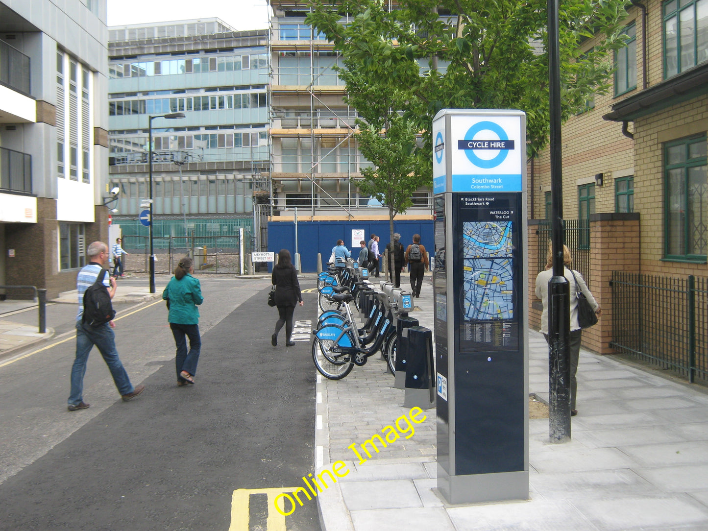
<svg viewBox="0 0 708 531">
<path fill-rule="evenodd" d="M 426 280 L 411 316 L 432 330 L 429 273 Z M 545 399 L 548 348 L 537 332 L 529 343 L 529 390 Z M 327 531 L 708 529 L 708 394 L 700 387 L 583 350 L 571 442 L 549 442 L 548 419 L 530 420 L 530 500 L 449 506 L 436 488 L 435 409 L 415 435 L 363 464 L 347 448 L 408 412 L 384 369 L 375 356 L 338 382 L 318 378 L 316 467 L 341 459 L 350 470 L 317 498 Z"/>
</svg>

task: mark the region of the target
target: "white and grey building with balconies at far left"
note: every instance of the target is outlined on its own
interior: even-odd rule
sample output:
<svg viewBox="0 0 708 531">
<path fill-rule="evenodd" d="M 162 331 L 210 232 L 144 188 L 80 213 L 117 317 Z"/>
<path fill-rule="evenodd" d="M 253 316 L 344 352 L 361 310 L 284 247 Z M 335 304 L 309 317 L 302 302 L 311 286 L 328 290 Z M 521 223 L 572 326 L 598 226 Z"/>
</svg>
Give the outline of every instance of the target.
<svg viewBox="0 0 708 531">
<path fill-rule="evenodd" d="M 0 285 L 74 289 L 107 238 L 106 10 L 0 2 Z"/>
</svg>

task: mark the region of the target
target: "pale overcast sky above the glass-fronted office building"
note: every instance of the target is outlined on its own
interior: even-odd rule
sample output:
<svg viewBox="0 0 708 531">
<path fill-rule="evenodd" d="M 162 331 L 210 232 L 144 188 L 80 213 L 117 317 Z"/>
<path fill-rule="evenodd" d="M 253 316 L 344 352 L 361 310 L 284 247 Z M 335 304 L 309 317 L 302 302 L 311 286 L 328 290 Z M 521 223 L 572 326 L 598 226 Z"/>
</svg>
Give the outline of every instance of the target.
<svg viewBox="0 0 708 531">
<path fill-rule="evenodd" d="M 108 25 L 218 17 L 236 30 L 268 28 L 266 0 L 108 0 Z"/>
</svg>

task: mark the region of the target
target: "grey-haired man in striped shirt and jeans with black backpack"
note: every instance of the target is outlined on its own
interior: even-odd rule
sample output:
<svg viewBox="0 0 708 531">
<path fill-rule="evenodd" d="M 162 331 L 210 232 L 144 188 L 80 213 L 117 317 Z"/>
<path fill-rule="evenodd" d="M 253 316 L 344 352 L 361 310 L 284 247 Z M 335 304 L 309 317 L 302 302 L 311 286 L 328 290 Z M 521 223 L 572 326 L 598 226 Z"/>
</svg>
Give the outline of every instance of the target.
<svg viewBox="0 0 708 531">
<path fill-rule="evenodd" d="M 84 402 L 84 375 L 86 362 L 94 345 L 103 356 L 105 365 L 108 365 L 110 375 L 113 376 L 115 387 L 124 401 L 132 400 L 145 389 L 144 385 L 133 387 L 123 367 L 118 350 L 115 348 L 115 333 L 113 321 L 93 326 L 84 322 L 84 294 L 98 281 L 98 275 L 103 275 L 102 284 L 108 291 L 108 296 L 113 299 L 115 295 L 115 278 L 108 274 L 108 246 L 103 241 L 94 241 L 86 249 L 89 255 L 89 264 L 84 265 L 76 275 L 76 291 L 79 292 L 79 313 L 76 314 L 76 358 L 72 366 L 72 391 L 69 394 L 69 411 L 87 409 L 91 404 Z"/>
</svg>

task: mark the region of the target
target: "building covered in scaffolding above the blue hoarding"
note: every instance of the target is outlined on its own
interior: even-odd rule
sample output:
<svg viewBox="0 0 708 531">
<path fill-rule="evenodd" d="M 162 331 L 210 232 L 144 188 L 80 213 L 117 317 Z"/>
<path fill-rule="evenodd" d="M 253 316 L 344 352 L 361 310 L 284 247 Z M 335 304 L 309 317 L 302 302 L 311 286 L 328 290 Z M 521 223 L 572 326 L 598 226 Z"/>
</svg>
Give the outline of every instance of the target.
<svg viewBox="0 0 708 531">
<path fill-rule="evenodd" d="M 270 0 L 270 139 L 273 221 L 382 220 L 388 209 L 360 192 L 360 169 L 371 166 L 358 150 L 355 109 L 333 70 L 342 59 L 304 20 L 307 2 Z M 431 219 L 431 190 L 413 194 L 396 219 Z"/>
</svg>

